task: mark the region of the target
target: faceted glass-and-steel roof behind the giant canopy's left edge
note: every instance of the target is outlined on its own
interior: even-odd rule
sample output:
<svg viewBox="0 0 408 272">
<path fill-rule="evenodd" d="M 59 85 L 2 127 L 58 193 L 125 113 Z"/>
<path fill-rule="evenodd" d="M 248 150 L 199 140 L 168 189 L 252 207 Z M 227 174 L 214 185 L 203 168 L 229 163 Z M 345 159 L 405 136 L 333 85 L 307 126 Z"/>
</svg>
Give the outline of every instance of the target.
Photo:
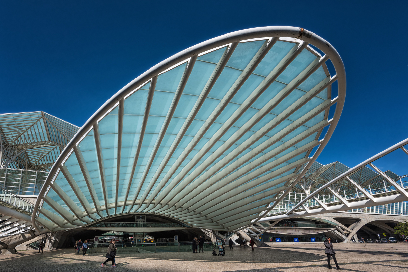
<svg viewBox="0 0 408 272">
<path fill-rule="evenodd" d="M 0 114 L 0 168 L 47 171 L 78 129 L 45 112 Z"/>
</svg>

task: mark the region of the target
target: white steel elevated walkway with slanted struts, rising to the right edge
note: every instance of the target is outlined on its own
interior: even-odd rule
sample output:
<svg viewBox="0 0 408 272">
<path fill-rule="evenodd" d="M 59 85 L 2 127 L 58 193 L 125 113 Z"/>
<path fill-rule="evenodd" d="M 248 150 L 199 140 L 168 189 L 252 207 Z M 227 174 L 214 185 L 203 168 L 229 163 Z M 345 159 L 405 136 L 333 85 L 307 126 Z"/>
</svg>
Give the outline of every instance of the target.
<svg viewBox="0 0 408 272">
<path fill-rule="evenodd" d="M 268 208 L 268 216 L 256 222 L 348 211 L 408 201 L 408 175 L 398 176 L 391 171 L 382 172 L 373 164 L 379 158 L 398 150 L 402 150 L 408 155 L 408 151 L 404 147 L 407 143 L 408 139 L 401 141 L 356 167 L 341 173 L 330 182 L 324 185 L 320 184 L 320 187 L 311 193 L 288 195 L 285 200 L 271 204 Z M 356 177 L 363 177 L 364 183 L 357 182 Z M 347 182 L 347 189 L 341 189 L 341 182 L 343 181 Z M 325 193 L 319 194 L 319 192 Z M 404 208 L 405 210 L 401 213 L 408 212 L 406 205 Z"/>
</svg>

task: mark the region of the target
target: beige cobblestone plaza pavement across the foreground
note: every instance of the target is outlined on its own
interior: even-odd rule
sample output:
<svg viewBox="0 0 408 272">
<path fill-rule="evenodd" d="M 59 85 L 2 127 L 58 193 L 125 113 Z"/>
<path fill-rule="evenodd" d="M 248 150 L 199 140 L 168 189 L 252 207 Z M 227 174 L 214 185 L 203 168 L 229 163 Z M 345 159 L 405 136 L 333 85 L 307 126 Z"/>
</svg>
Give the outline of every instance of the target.
<svg viewBox="0 0 408 272">
<path fill-rule="evenodd" d="M 408 271 L 408 243 L 335 243 L 337 261 L 344 271 L 398 272 Z M 214 257 L 211 251 L 118 254 L 118 267 L 106 265 L 104 254 L 85 257 L 73 249 L 22 251 L 19 255 L 0 255 L 0 271 L 18 272 L 299 272 L 328 271 L 323 244 L 282 244 L 271 248 L 226 249 L 223 257 Z M 335 265 L 332 260 L 333 271 Z"/>
</svg>

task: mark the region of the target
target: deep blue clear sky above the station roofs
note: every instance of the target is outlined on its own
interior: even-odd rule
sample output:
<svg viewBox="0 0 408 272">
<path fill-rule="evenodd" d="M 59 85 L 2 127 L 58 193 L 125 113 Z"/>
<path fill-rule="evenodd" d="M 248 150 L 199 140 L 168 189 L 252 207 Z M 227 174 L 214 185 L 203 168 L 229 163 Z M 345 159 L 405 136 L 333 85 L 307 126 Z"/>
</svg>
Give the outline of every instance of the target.
<svg viewBox="0 0 408 272">
<path fill-rule="evenodd" d="M 313 2 L 310 4 L 310 2 Z M 406 1 L 2 1 L 0 113 L 83 123 L 132 79 L 206 39 L 299 26 L 339 52 L 346 103 L 322 164 L 353 167 L 408 137 Z M 402 151 L 383 170 L 407 174 Z"/>
</svg>

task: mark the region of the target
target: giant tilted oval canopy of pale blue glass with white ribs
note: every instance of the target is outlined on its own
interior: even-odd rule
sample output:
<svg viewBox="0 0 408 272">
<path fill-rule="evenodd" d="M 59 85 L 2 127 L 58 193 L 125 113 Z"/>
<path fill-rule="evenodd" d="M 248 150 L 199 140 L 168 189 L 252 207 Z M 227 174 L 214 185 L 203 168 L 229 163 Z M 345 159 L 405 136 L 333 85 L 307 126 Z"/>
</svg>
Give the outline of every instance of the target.
<svg viewBox="0 0 408 272">
<path fill-rule="evenodd" d="M 192 46 L 81 127 L 44 183 L 33 225 L 60 230 L 133 213 L 214 230 L 250 224 L 316 160 L 345 92 L 337 51 L 304 29 L 247 29 Z"/>
</svg>

